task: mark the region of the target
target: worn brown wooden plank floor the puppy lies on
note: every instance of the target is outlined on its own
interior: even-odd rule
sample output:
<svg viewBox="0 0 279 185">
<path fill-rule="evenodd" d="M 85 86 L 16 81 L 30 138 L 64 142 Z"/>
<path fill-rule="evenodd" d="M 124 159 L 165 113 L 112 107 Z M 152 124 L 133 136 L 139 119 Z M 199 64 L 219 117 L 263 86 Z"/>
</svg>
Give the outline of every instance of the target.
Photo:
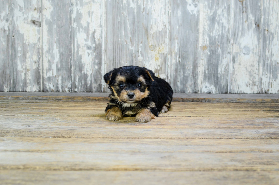
<svg viewBox="0 0 279 185">
<path fill-rule="evenodd" d="M 279 184 L 279 103 L 257 102 L 136 123 L 103 100 L 0 94 L 0 184 Z"/>
</svg>

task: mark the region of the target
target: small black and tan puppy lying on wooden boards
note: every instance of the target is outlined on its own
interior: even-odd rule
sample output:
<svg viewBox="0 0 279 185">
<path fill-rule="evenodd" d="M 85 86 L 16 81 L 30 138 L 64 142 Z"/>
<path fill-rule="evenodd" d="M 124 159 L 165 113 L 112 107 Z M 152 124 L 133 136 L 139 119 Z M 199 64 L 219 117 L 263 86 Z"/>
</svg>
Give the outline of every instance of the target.
<svg viewBox="0 0 279 185">
<path fill-rule="evenodd" d="M 165 80 L 146 68 L 124 66 L 104 75 L 111 91 L 106 119 L 117 121 L 123 116 L 136 116 L 135 121 L 149 122 L 158 113 L 166 113 L 173 99 L 173 90 Z"/>
</svg>

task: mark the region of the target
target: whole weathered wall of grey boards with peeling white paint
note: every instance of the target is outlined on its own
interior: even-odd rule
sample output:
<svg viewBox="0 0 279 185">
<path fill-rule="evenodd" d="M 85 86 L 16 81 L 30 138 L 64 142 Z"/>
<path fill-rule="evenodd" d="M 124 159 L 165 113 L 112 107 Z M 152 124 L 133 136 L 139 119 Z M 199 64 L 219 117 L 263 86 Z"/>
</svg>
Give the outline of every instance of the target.
<svg viewBox="0 0 279 185">
<path fill-rule="evenodd" d="M 4 0 L 0 91 L 106 92 L 146 66 L 179 93 L 279 93 L 278 0 Z"/>
</svg>

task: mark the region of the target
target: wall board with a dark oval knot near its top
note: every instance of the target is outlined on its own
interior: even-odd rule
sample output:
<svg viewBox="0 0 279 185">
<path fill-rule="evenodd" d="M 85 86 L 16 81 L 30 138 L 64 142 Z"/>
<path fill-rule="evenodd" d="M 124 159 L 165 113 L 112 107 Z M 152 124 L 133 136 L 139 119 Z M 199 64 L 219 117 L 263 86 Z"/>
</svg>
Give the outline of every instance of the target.
<svg viewBox="0 0 279 185">
<path fill-rule="evenodd" d="M 39 0 L 11 1 L 11 91 L 40 91 L 40 15 Z"/>
</svg>

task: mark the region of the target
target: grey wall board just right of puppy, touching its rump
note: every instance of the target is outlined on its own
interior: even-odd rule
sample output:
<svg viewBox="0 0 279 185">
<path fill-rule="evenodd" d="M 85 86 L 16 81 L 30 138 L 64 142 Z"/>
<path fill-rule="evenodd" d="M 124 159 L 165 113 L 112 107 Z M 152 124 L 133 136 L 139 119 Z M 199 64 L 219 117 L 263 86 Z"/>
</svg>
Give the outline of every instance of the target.
<svg viewBox="0 0 279 185">
<path fill-rule="evenodd" d="M 174 92 L 198 92 L 199 13 L 198 1 L 170 1 L 167 80 Z"/>
</svg>

